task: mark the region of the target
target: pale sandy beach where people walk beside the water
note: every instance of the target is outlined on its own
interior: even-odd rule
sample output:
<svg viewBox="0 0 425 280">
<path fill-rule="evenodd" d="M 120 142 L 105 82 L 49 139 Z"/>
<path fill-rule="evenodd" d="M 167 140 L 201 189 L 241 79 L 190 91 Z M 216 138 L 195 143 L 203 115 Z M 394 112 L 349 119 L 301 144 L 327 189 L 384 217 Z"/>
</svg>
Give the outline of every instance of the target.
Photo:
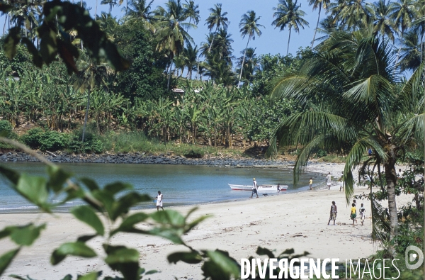
<svg viewBox="0 0 425 280">
<path fill-rule="evenodd" d="M 309 171 L 325 174 L 341 174 L 344 164 L 316 164 L 308 167 Z M 324 181 L 324 177 L 323 177 Z M 355 194 L 367 191 L 356 187 Z M 250 192 L 246 192 L 249 197 Z M 338 215 L 336 226 L 327 225 L 331 201 L 336 201 Z M 399 196 L 397 207 L 412 201 L 411 196 Z M 165 201 L 166 202 L 166 201 Z M 370 203 L 365 203 L 366 216 L 370 215 Z M 386 203 L 386 201 L 385 201 Z M 176 207 L 177 211 L 187 213 L 192 206 Z M 365 225 L 351 225 L 350 208 L 346 206 L 344 192 L 339 191 L 339 183 L 334 182 L 331 190 L 304 191 L 293 194 L 261 196 L 242 201 L 211 203 L 200 205 L 192 218 L 212 215 L 198 228 L 185 236 L 184 240 L 196 249 L 229 251 L 239 260 L 255 256 L 257 246 L 276 250 L 277 253 L 294 248 L 295 253 L 310 252 L 314 258 L 356 259 L 367 257 L 377 250 L 370 239 L 370 218 Z M 0 228 L 7 225 L 24 225 L 35 218 L 38 223 L 47 223 L 47 230 L 33 247 L 24 248 L 6 270 L 1 279 L 11 279 L 8 274 L 30 275 L 34 279 L 62 279 L 66 274 L 84 274 L 93 270 L 103 270 L 104 275 L 113 272 L 103 264 L 101 259 L 82 259 L 67 257 L 61 264 L 52 267 L 50 254 L 63 242 L 76 240 L 78 235 L 91 234 L 93 230 L 72 215 L 56 214 L 4 214 L 0 218 Z M 0 240 L 1 253 L 11 250 L 13 245 L 8 239 Z M 100 238 L 88 244 L 101 254 Z M 201 264 L 168 264 L 166 256 L 171 252 L 185 250 L 183 246 L 172 245 L 159 237 L 132 234 L 115 235 L 111 240 L 114 245 L 136 247 L 140 251 L 140 264 L 145 269 L 161 271 L 153 274 L 151 279 L 200 279 Z"/>
</svg>

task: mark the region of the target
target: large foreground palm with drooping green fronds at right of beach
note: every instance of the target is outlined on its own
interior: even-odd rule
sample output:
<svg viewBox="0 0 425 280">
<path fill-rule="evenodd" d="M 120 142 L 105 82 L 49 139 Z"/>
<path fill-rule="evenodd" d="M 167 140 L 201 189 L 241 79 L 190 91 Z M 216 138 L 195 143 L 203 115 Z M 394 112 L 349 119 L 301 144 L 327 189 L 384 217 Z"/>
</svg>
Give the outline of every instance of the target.
<svg viewBox="0 0 425 280">
<path fill-rule="evenodd" d="M 302 145 L 295 180 L 314 148 L 346 154 L 347 203 L 353 194 L 353 169 L 375 166 L 380 174 L 383 166 L 392 240 L 398 223 L 395 164 L 405 148 L 424 142 L 423 68 L 400 86 L 388 40 L 361 30 L 334 33 L 318 47 L 300 73 L 283 77 L 271 91 L 274 98 L 295 100 L 303 109 L 278 125 L 269 153 L 276 152 L 277 144 Z M 365 159 L 368 147 L 373 157 Z"/>
</svg>

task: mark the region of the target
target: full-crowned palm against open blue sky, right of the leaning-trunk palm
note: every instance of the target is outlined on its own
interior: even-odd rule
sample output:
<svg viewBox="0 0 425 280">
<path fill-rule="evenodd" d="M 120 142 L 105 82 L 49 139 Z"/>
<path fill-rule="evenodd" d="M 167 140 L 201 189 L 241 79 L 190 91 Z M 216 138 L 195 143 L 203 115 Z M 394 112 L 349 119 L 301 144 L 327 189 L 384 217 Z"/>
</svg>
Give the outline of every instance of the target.
<svg viewBox="0 0 425 280">
<path fill-rule="evenodd" d="M 301 5 L 297 5 L 297 1 L 298 0 L 295 0 L 295 2 L 293 2 L 293 0 L 279 0 L 278 6 L 273 7 L 275 11 L 273 13 L 273 18 L 276 19 L 271 25 L 280 28 L 280 30 L 289 27 L 286 55 L 289 53 L 290 31 L 292 28 L 294 28 L 295 32 L 300 33 L 300 27 L 304 29 L 304 26 L 308 26 L 308 22 L 302 18 L 302 16 L 305 16 L 305 12 L 300 10 Z"/>
</svg>

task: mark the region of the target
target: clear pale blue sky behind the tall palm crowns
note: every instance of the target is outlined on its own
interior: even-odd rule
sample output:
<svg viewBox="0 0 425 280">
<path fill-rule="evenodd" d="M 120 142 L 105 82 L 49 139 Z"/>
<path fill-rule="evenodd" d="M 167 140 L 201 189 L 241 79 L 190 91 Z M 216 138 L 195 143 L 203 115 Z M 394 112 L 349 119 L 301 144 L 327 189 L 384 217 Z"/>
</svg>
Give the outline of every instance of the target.
<svg viewBox="0 0 425 280">
<path fill-rule="evenodd" d="M 76 0 L 77 2 L 78 0 Z M 87 6 L 91 7 L 90 13 L 94 16 L 94 7 L 96 6 L 96 0 L 86 0 Z M 98 0 L 98 11 L 100 14 L 101 11 L 109 11 L 108 5 L 100 5 L 101 0 Z M 184 2 L 184 0 L 182 0 Z M 198 0 L 196 4 L 199 5 L 200 10 L 200 22 L 198 23 L 197 29 L 189 30 L 189 34 L 193 37 L 196 45 L 200 46 L 202 42 L 205 42 L 206 34 L 208 34 L 208 28 L 205 26 L 205 19 L 208 18 L 210 11 L 208 9 L 212 8 L 214 4 L 221 3 L 222 11 L 227 11 L 227 18 L 229 19 L 229 33 L 232 34 L 232 47 L 234 50 L 234 55 L 236 57 L 241 56 L 240 52 L 246 47 L 246 41 L 248 38 L 242 38 L 239 33 L 239 21 L 244 13 L 249 10 L 254 10 L 257 16 L 261 16 L 259 23 L 264 26 L 261 29 L 263 34 L 261 37 L 256 37 L 255 40 L 249 42 L 249 47 L 256 48 L 256 54 L 278 54 L 286 55 L 286 48 L 288 46 L 288 34 L 289 30 L 280 31 L 280 28 L 274 28 L 271 26 L 273 21 L 273 7 L 277 6 L 278 0 Z M 152 6 L 155 9 L 157 6 L 164 6 L 166 0 L 154 0 Z M 310 27 L 306 27 L 305 30 L 300 29 L 300 34 L 295 33 L 292 30 L 290 37 L 290 47 L 289 52 L 293 55 L 296 54 L 299 47 L 310 46 L 313 35 L 314 28 L 317 23 L 317 14 L 318 10 L 312 11 L 312 6 L 308 6 L 306 0 L 298 0 L 298 4 L 301 4 L 301 10 L 305 11 L 306 16 L 305 20 L 310 23 Z M 113 8 L 112 14 L 117 18 L 121 18 L 125 15 L 124 11 L 121 9 L 125 7 L 125 0 L 121 6 L 115 6 Z M 326 15 L 322 11 L 320 18 L 324 18 Z M 317 35 L 316 35 L 317 37 Z"/>
</svg>

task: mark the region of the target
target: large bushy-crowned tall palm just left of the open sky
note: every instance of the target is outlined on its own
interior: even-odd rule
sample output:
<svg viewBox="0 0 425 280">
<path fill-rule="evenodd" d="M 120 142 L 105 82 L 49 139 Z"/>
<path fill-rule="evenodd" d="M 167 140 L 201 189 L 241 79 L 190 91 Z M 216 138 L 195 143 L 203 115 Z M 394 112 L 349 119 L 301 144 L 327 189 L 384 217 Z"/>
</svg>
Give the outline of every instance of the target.
<svg viewBox="0 0 425 280">
<path fill-rule="evenodd" d="M 169 79 L 167 88 L 170 87 L 171 69 L 174 56 L 179 56 L 183 51 L 184 44 L 193 43 L 193 38 L 186 30 L 196 28 L 193 23 L 184 22 L 187 18 L 181 0 L 169 0 L 165 4 L 166 8 L 159 6 L 155 11 L 155 38 L 157 40 L 157 50 L 165 50 L 170 60 Z M 186 30 L 185 30 L 186 28 Z"/>
</svg>

